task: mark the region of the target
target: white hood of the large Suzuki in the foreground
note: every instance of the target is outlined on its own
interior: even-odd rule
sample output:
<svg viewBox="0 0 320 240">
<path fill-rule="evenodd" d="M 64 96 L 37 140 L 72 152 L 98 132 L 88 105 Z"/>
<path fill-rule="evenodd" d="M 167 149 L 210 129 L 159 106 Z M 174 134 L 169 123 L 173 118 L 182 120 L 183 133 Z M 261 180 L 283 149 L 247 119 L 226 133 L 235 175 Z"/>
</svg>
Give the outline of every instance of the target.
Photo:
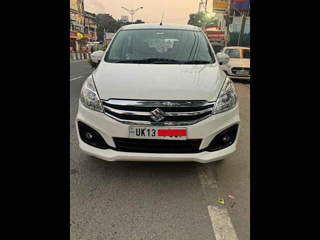
<svg viewBox="0 0 320 240">
<path fill-rule="evenodd" d="M 216 63 L 134 64 L 101 61 L 93 71 L 101 99 L 215 101 L 225 79 Z"/>
</svg>

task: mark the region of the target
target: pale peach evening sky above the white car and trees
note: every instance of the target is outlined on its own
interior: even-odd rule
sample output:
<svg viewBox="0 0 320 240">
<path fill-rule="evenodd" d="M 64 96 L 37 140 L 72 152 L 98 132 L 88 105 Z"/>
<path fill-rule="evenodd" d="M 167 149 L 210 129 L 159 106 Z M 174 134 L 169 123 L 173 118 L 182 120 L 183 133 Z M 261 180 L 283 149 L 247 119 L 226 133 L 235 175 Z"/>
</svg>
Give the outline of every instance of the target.
<svg viewBox="0 0 320 240">
<path fill-rule="evenodd" d="M 84 0 L 84 10 L 93 13 L 109 13 L 114 19 L 127 15 L 131 21 L 131 15 L 121 6 L 128 9 L 142 6 L 142 9 L 134 13 L 133 21 L 140 19 L 157 23 L 161 21 L 164 11 L 163 22 L 186 24 L 189 14 L 198 11 L 199 2 L 200 0 Z M 212 11 L 212 0 L 207 2 L 207 10 Z"/>
</svg>

